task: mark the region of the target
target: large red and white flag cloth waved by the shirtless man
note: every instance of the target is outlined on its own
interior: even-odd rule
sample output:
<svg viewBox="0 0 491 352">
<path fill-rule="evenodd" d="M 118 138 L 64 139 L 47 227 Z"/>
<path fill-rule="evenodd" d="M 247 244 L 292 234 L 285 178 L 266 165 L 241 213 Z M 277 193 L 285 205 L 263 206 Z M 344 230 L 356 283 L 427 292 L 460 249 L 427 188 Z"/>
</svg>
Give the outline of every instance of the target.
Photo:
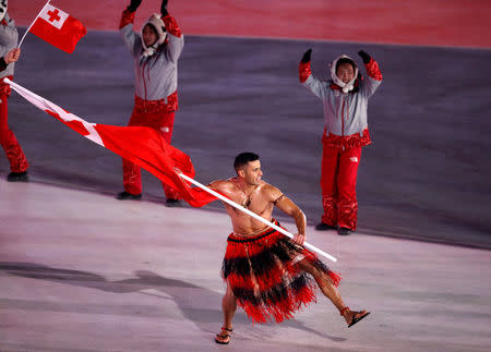
<svg viewBox="0 0 491 352">
<path fill-rule="evenodd" d="M 158 131 L 151 128 L 89 123 L 13 83 L 9 78 L 4 78 L 3 82 L 9 83 L 27 101 L 63 122 L 84 137 L 149 171 L 159 180 L 177 190 L 181 197 L 191 206 L 201 207 L 217 199 L 201 189 L 190 187 L 176 173 L 175 168 L 178 168 L 183 174 L 194 178 L 195 172 L 191 158 L 183 151 L 169 145 Z"/>
</svg>

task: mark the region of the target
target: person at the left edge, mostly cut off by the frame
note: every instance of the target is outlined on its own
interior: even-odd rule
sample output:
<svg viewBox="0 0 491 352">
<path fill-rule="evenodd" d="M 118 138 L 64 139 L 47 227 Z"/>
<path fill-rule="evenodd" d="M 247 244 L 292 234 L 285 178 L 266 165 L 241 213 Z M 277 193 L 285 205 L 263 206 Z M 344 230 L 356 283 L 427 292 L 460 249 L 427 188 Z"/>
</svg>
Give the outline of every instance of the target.
<svg viewBox="0 0 491 352">
<path fill-rule="evenodd" d="M 3 68 L 0 72 L 0 144 L 10 162 L 11 172 L 8 174 L 7 181 L 25 182 L 28 181 L 27 169 L 29 165 L 17 138 L 15 138 L 12 130 L 9 129 L 8 98 L 11 89 L 10 85 L 3 82 L 4 77 L 13 80 L 14 61 L 19 59 L 21 53 L 20 49 L 15 48 L 17 46 L 19 34 L 15 22 L 7 13 L 7 2 L 0 2 L 0 57 L 2 58 L 0 60 L 0 69 Z M 1 17 L 2 14 L 3 17 Z"/>
</svg>

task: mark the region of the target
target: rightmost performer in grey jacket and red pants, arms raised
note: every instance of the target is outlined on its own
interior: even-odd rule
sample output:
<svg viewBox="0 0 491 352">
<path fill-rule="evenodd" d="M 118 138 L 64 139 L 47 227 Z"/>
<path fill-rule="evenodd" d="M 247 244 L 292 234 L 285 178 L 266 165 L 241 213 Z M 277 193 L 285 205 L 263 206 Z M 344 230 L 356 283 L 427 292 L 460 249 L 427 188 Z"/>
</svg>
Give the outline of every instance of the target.
<svg viewBox="0 0 491 352">
<path fill-rule="evenodd" d="M 364 51 L 368 78 L 358 73 L 351 58 L 342 56 L 331 64 L 330 82 L 321 82 L 311 72 L 312 49 L 302 57 L 300 82 L 324 105 L 324 135 L 322 137 L 321 189 L 324 214 L 318 230 L 337 229 L 350 234 L 357 228 L 358 202 L 356 184 L 361 147 L 369 145 L 367 121 L 368 101 L 382 83 L 379 64 Z"/>
</svg>

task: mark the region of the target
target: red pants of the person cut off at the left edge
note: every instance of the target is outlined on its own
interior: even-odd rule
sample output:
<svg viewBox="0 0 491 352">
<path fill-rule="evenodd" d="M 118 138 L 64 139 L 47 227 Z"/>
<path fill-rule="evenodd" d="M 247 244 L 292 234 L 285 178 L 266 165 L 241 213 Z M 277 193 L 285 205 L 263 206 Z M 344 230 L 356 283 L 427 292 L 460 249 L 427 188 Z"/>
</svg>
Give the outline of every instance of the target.
<svg viewBox="0 0 491 352">
<path fill-rule="evenodd" d="M 12 76 L 9 76 L 13 80 Z M 22 151 L 21 145 L 15 138 L 12 130 L 9 129 L 7 122 L 9 116 L 9 107 L 7 99 L 10 96 L 10 85 L 0 82 L 0 144 L 3 150 L 5 150 L 7 158 L 10 162 L 10 170 L 12 172 L 24 172 L 29 167 L 24 151 Z"/>
</svg>

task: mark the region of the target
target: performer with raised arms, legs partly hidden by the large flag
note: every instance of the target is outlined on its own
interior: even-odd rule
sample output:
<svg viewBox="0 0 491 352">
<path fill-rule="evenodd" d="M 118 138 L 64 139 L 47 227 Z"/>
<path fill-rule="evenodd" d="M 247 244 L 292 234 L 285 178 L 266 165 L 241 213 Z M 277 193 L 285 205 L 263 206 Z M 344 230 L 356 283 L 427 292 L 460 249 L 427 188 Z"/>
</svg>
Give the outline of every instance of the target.
<svg viewBox="0 0 491 352">
<path fill-rule="evenodd" d="M 167 11 L 167 2 L 161 2 L 161 14 L 153 14 L 137 35 L 133 22 L 142 0 L 131 0 L 122 13 L 119 31 L 134 60 L 134 108 L 128 125 L 153 128 L 170 144 L 178 109 L 177 64 L 184 38 Z M 140 167 L 127 159 L 122 163 L 124 191 L 117 198 L 139 199 L 142 196 Z M 166 205 L 179 205 L 179 193 L 165 183 L 163 186 Z"/>
</svg>

